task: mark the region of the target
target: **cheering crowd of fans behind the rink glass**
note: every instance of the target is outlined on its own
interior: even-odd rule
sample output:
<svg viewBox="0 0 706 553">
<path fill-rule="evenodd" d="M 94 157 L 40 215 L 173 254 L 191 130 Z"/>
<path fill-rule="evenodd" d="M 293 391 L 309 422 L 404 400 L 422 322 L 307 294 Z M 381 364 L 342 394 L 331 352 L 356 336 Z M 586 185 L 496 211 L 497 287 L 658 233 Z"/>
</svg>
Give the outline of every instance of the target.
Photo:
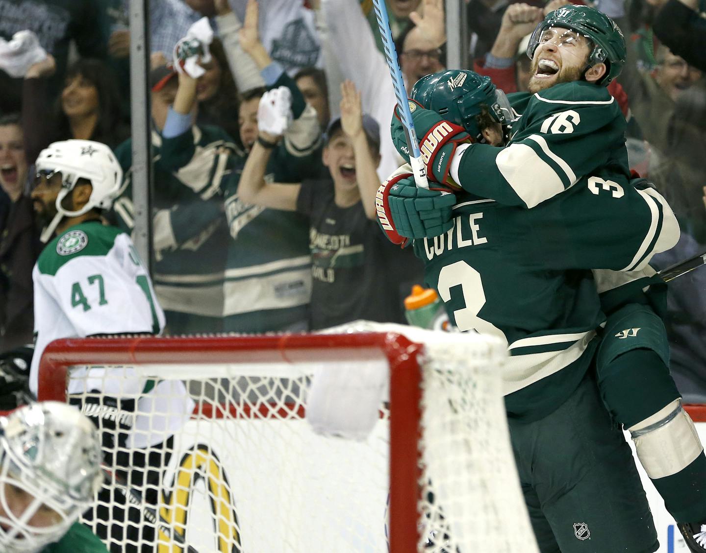
<svg viewBox="0 0 706 553">
<path fill-rule="evenodd" d="M 443 0 L 387 3 L 409 89 L 445 68 Z M 31 272 L 42 243 L 30 192 L 42 148 L 68 138 L 112 147 L 125 176 L 104 215 L 133 230 L 127 4 L 0 0 L 0 37 L 35 37 L 19 54 L 0 49 L 0 352 L 32 341 Z M 528 35 L 562 4 L 467 0 L 465 68 L 505 92 L 527 90 Z M 628 43 L 609 90 L 628 119 L 630 165 L 654 181 L 683 231 L 656 258 L 666 267 L 706 244 L 706 2 L 596 4 Z M 402 300 L 423 275 L 411 248 L 385 240 L 370 208 L 371 190 L 401 164 L 371 0 L 150 0 L 149 15 L 153 281 L 167 332 L 404 322 Z M 215 35 L 210 61 L 190 78 L 174 71 L 172 52 L 204 17 Z M 292 96 L 293 120 L 268 142 L 258 106 L 279 87 Z M 370 155 L 347 120 L 352 109 L 366 114 Z M 254 181 L 282 185 L 275 190 L 288 202 L 244 201 L 239 191 Z M 706 269 L 675 281 L 670 310 L 675 377 L 687 400 L 704 400 Z"/>
</svg>

